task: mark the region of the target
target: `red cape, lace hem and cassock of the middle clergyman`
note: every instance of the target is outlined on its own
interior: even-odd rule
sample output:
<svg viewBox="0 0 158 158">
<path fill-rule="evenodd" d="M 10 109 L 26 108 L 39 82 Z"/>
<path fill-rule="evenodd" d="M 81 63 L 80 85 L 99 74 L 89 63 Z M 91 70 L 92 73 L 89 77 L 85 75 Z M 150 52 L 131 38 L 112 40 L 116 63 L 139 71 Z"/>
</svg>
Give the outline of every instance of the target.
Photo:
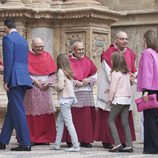
<svg viewBox="0 0 158 158">
<path fill-rule="evenodd" d="M 97 68 L 88 57 L 85 56 L 82 59 L 76 59 L 70 56 L 69 59 L 74 73 L 74 80 L 82 81 L 96 74 Z M 75 95 L 78 103 L 73 105 L 71 111 L 79 142 L 92 143 L 94 141 L 95 126 L 95 106 L 92 90 L 78 91 L 75 92 Z M 62 141 L 71 142 L 66 128 Z"/>
</svg>

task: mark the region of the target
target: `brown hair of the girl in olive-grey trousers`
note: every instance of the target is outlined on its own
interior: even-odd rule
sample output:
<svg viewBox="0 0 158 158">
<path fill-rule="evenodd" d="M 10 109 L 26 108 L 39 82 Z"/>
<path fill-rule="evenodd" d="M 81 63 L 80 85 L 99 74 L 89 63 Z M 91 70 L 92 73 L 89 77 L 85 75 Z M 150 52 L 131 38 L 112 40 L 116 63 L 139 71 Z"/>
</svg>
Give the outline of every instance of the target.
<svg viewBox="0 0 158 158">
<path fill-rule="evenodd" d="M 112 54 L 111 59 L 112 59 L 111 72 L 121 71 L 123 74 L 127 74 L 129 72 L 124 55 L 122 52 L 114 52 Z"/>
</svg>

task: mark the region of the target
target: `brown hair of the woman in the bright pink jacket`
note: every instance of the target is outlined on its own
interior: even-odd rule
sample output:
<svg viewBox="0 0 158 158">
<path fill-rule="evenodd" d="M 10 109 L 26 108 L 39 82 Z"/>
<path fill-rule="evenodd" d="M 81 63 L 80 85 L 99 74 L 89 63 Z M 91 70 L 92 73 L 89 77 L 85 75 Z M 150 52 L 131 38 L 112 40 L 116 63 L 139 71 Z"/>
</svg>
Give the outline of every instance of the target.
<svg viewBox="0 0 158 158">
<path fill-rule="evenodd" d="M 158 53 L 158 39 L 154 31 L 148 30 L 145 32 L 144 40 L 146 42 L 147 48 L 151 48 Z"/>
</svg>

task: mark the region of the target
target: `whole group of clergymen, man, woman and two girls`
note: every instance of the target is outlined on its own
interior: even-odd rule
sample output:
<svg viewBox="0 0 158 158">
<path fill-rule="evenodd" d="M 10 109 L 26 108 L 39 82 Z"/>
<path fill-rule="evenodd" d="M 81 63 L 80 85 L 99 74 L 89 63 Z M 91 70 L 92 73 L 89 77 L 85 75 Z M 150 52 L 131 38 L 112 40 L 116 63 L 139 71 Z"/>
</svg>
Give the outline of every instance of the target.
<svg viewBox="0 0 158 158">
<path fill-rule="evenodd" d="M 133 152 L 133 81 L 137 78 L 137 90 L 144 101 L 149 94 L 158 99 L 158 39 L 154 31 L 144 33 L 138 70 L 136 53 L 127 46 L 127 33 L 119 31 L 114 43 L 102 52 L 97 71 L 80 40 L 72 43 L 71 54 L 59 53 L 55 63 L 41 38 L 34 38 L 29 50 L 14 18 L 6 18 L 4 28 L 0 73 L 8 104 L 0 150 L 6 149 L 15 129 L 19 146 L 12 151 L 31 151 L 33 145 L 50 143 L 50 149 L 59 150 L 66 142 L 65 151 L 79 152 L 80 147 L 91 148 L 94 141 L 100 141 L 109 152 Z M 57 117 L 52 89 L 60 104 Z M 144 110 L 143 114 L 143 153 L 158 154 L 158 109 Z"/>
</svg>

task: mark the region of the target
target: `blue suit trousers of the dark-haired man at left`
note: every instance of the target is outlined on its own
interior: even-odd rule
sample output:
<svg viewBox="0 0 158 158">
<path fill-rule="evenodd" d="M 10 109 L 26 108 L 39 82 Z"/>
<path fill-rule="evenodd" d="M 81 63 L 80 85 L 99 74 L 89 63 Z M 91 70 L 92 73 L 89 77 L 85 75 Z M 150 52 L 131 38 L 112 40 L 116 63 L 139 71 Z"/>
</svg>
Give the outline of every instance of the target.
<svg viewBox="0 0 158 158">
<path fill-rule="evenodd" d="M 7 92 L 8 105 L 7 113 L 0 134 L 0 143 L 8 144 L 13 129 L 19 138 L 19 145 L 30 146 L 30 135 L 23 105 L 26 86 L 10 88 Z"/>
</svg>

